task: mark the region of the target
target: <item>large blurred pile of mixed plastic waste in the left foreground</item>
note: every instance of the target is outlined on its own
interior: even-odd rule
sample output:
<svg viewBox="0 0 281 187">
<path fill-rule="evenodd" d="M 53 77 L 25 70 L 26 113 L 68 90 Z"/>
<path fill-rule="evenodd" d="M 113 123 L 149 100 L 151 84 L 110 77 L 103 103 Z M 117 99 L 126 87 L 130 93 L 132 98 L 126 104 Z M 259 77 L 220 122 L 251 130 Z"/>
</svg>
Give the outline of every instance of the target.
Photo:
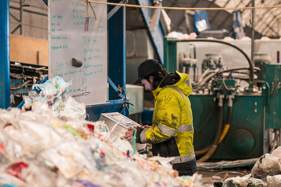
<svg viewBox="0 0 281 187">
<path fill-rule="evenodd" d="M 22 109 L 0 109 L 0 187 L 201 187 L 201 175 L 179 177 L 168 158 L 134 153 L 103 121 L 86 121 L 69 84 L 54 77 Z"/>
</svg>

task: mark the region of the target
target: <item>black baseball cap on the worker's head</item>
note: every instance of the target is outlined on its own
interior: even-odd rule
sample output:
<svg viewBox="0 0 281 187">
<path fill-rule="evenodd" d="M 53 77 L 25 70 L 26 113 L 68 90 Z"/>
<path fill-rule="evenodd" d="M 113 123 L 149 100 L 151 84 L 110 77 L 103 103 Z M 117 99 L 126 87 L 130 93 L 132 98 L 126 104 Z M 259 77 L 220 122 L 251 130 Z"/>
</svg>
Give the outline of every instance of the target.
<svg viewBox="0 0 281 187">
<path fill-rule="evenodd" d="M 142 62 L 138 67 L 138 78 L 133 84 L 141 83 L 141 80 L 143 80 L 144 77 L 150 75 L 154 71 L 161 69 L 162 65 L 160 62 L 158 62 L 159 61 L 156 61 L 154 59 L 149 59 Z"/>
</svg>

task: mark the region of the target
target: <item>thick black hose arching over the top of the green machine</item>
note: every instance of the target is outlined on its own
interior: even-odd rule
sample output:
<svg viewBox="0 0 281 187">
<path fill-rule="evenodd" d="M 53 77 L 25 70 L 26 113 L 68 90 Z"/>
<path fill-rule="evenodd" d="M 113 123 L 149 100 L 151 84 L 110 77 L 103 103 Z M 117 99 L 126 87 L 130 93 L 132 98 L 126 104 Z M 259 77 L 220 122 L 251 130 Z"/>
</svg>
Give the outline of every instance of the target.
<svg viewBox="0 0 281 187">
<path fill-rule="evenodd" d="M 253 83 L 254 83 L 254 65 L 253 65 L 251 59 L 248 57 L 248 55 L 237 45 L 234 45 L 230 42 L 220 41 L 220 40 L 216 40 L 216 39 L 212 39 L 212 40 L 209 40 L 209 39 L 190 39 L 190 40 L 179 40 L 177 42 L 216 42 L 216 43 L 223 43 L 223 44 L 226 44 L 226 45 L 229 45 L 229 46 L 232 46 L 232 47 L 236 48 L 238 51 L 240 51 L 245 56 L 245 58 L 247 59 L 247 61 L 249 63 L 249 66 L 250 66 L 249 83 L 250 83 L 251 86 L 253 85 Z"/>
</svg>

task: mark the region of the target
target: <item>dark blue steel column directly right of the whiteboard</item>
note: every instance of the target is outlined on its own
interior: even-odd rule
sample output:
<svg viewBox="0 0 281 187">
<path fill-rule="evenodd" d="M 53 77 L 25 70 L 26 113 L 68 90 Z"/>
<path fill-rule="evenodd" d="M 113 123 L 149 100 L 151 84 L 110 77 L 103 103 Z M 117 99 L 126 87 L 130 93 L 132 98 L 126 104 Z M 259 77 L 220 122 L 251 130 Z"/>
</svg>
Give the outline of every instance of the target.
<svg viewBox="0 0 281 187">
<path fill-rule="evenodd" d="M 119 0 L 108 0 L 119 3 Z M 108 5 L 108 12 L 115 6 Z M 126 8 L 120 7 L 108 20 L 108 77 L 116 86 L 126 86 Z M 117 100 L 116 91 L 109 86 L 109 100 Z M 123 99 L 123 98 L 121 98 Z"/>
</svg>

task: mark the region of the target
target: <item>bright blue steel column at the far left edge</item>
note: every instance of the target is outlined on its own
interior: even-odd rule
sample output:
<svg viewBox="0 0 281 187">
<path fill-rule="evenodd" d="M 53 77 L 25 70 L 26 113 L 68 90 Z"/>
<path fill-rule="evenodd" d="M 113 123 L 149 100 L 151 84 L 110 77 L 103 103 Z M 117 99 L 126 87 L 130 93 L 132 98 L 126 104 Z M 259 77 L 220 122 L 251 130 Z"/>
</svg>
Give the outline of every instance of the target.
<svg viewBox="0 0 281 187">
<path fill-rule="evenodd" d="M 10 106 L 9 0 L 0 0 L 0 107 Z"/>
</svg>

